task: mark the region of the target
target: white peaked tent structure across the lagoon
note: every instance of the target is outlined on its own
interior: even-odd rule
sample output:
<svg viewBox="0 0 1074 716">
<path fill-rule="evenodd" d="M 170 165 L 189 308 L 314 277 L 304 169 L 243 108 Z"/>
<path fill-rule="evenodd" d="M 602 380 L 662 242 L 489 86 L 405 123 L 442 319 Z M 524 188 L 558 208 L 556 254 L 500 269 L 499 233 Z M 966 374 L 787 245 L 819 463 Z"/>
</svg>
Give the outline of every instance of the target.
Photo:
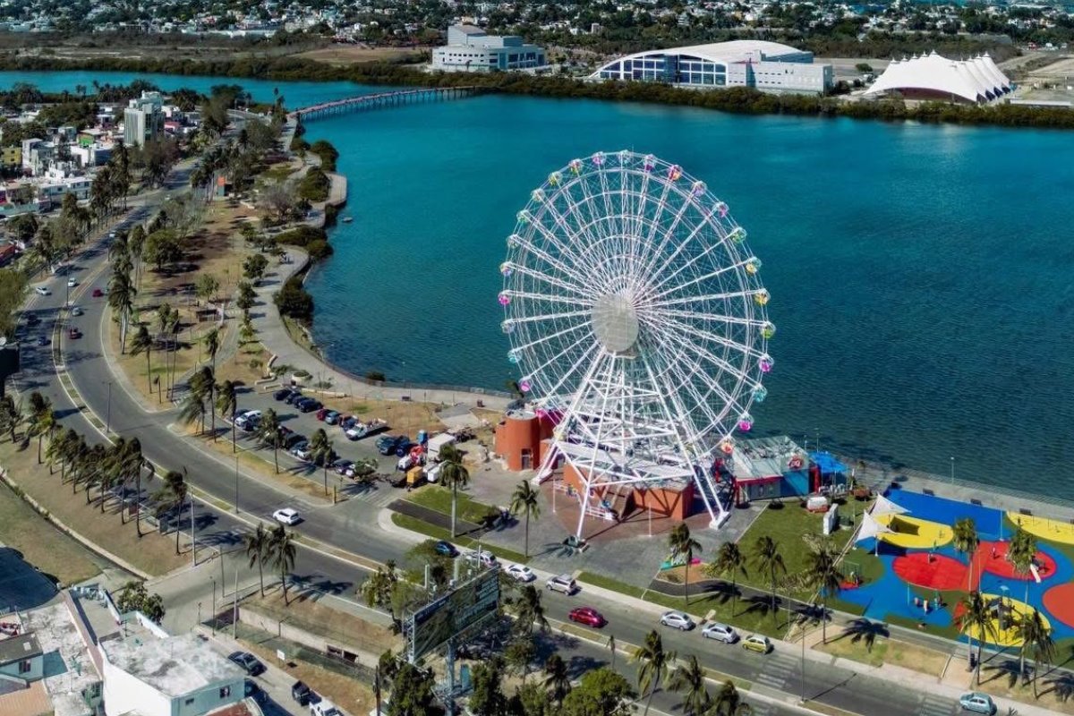
<svg viewBox="0 0 1074 716">
<path fill-rule="evenodd" d="M 987 54 L 970 60 L 949 60 L 933 50 L 911 59 L 895 60 L 866 97 L 897 92 L 910 98 L 991 102 L 1011 91 L 1011 81 Z"/>
</svg>

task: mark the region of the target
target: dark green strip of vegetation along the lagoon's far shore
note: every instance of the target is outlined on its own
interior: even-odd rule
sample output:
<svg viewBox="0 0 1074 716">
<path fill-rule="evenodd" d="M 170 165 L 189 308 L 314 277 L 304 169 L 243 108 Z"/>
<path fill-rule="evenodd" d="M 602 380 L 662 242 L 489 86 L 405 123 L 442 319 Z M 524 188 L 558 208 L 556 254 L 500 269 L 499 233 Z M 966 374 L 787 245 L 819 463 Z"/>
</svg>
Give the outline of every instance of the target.
<svg viewBox="0 0 1074 716">
<path fill-rule="evenodd" d="M 647 83 L 586 82 L 576 77 L 531 76 L 509 73 L 431 73 L 407 65 L 364 63 L 325 65 L 314 60 L 284 57 L 263 60 L 190 61 L 175 67 L 163 60 L 93 58 L 82 61 L 47 57 L 0 57 L 9 71 L 114 71 L 216 76 L 277 82 L 351 82 L 360 85 L 425 87 L 478 86 L 485 92 L 550 99 L 590 99 L 693 106 L 729 114 L 787 115 L 817 119 L 873 119 L 919 121 L 926 125 L 992 126 L 1004 128 L 1074 129 L 1074 111 L 1065 107 L 1030 107 L 1010 103 L 952 105 L 902 100 L 844 101 L 837 96 L 767 94 L 732 87 L 696 90 Z"/>
</svg>

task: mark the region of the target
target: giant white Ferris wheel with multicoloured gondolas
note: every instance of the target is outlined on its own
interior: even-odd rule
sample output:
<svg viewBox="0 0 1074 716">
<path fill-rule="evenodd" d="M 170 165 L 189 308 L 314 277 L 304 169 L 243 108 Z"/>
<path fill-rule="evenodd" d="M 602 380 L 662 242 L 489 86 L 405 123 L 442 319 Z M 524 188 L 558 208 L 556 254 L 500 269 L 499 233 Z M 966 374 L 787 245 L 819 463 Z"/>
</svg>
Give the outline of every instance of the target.
<svg viewBox="0 0 1074 716">
<path fill-rule="evenodd" d="M 552 172 L 500 265 L 520 389 L 558 419 L 539 478 L 565 458 L 586 488 L 694 481 L 728 514 L 716 451 L 753 427 L 772 370 L 768 291 L 746 232 L 703 181 L 651 155 L 596 152 Z"/>
</svg>

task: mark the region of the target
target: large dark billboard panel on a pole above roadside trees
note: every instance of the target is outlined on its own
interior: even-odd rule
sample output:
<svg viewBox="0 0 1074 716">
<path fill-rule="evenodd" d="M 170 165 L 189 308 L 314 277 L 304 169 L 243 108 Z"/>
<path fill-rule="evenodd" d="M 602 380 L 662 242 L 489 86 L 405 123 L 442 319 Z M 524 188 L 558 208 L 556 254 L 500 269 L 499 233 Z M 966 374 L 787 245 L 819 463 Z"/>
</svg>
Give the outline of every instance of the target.
<svg viewBox="0 0 1074 716">
<path fill-rule="evenodd" d="M 417 610 L 408 619 L 410 658 L 439 648 L 499 607 L 498 570 L 490 569 Z"/>
</svg>

